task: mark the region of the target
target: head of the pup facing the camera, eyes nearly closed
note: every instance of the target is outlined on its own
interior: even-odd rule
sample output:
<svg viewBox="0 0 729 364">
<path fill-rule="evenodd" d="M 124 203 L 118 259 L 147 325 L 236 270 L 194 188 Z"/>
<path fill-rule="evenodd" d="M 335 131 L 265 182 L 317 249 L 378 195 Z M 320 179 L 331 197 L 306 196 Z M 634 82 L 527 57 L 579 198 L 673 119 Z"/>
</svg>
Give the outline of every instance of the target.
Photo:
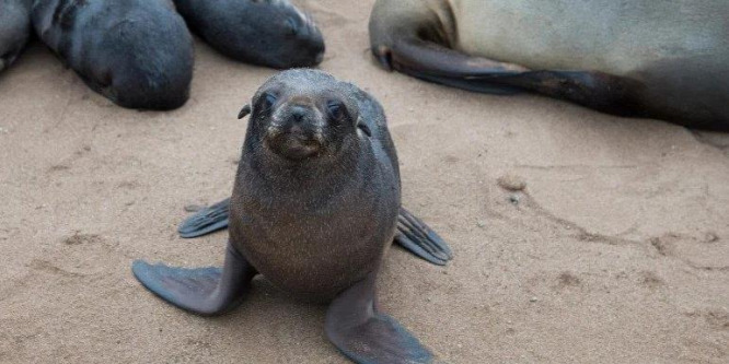
<svg viewBox="0 0 729 364">
<path fill-rule="evenodd" d="M 239 114 L 239 118 L 251 114 L 246 142 L 257 152 L 289 162 L 336 160 L 357 146 L 359 114 L 350 93 L 321 71 L 278 73 Z"/>
</svg>

